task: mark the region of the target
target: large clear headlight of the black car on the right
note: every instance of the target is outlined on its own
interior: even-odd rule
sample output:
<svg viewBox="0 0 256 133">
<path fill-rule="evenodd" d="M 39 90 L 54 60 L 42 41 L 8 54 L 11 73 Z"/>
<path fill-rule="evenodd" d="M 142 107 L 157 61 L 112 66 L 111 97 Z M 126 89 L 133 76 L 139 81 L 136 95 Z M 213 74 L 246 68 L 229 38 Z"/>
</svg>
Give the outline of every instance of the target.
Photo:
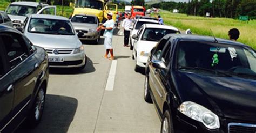
<svg viewBox="0 0 256 133">
<path fill-rule="evenodd" d="M 199 104 L 185 101 L 179 106 L 178 110 L 191 119 L 202 122 L 208 129 L 220 127 L 219 117 Z"/>
</svg>

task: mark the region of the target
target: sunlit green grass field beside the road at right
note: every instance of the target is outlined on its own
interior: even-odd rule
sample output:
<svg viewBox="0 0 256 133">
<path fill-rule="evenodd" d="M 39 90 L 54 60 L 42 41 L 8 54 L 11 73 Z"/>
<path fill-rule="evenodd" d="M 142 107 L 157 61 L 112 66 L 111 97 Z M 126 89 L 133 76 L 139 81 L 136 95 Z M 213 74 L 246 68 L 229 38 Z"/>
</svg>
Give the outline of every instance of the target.
<svg viewBox="0 0 256 133">
<path fill-rule="evenodd" d="M 212 30 L 216 37 L 228 39 L 228 31 L 231 28 L 238 28 L 240 37 L 237 41 L 256 49 L 256 34 L 254 34 L 256 20 L 245 23 L 230 18 L 205 18 L 167 11 L 160 12 L 160 15 L 166 25 L 172 25 L 183 30 L 190 28 L 194 34 L 199 35 L 212 36 Z"/>
</svg>

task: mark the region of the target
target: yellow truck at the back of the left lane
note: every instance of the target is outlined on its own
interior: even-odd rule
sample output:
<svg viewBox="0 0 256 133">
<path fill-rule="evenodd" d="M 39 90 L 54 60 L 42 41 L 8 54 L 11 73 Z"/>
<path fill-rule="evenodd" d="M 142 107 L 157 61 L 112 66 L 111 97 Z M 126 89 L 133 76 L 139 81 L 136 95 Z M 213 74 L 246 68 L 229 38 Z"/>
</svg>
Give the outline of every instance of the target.
<svg viewBox="0 0 256 133">
<path fill-rule="evenodd" d="M 95 15 L 100 23 L 107 20 L 107 12 L 112 12 L 113 20 L 116 20 L 117 4 L 112 4 L 104 0 L 75 0 L 73 5 L 73 16 L 76 14 Z"/>
</svg>

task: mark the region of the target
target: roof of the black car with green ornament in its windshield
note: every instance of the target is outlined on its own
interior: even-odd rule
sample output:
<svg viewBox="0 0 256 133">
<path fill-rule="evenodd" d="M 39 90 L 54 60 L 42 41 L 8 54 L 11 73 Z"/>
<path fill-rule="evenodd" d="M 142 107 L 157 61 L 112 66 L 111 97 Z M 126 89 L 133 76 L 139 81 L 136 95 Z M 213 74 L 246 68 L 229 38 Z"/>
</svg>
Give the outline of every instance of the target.
<svg viewBox="0 0 256 133">
<path fill-rule="evenodd" d="M 191 34 L 167 34 L 164 36 L 165 39 L 170 37 L 180 39 L 180 41 L 198 41 L 198 42 L 215 42 L 215 39 L 213 36 L 203 36 L 203 35 L 191 35 Z M 249 47 L 243 43 L 216 38 L 218 43 L 223 43 L 226 45 L 235 45 L 235 46 L 246 46 Z"/>
</svg>

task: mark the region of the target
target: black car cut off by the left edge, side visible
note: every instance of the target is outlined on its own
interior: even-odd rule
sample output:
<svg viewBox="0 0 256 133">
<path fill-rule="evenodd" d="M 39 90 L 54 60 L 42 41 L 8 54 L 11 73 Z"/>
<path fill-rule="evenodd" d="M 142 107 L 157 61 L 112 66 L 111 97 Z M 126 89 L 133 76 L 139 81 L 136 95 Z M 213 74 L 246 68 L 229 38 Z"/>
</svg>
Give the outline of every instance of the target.
<svg viewBox="0 0 256 133">
<path fill-rule="evenodd" d="M 48 84 L 48 55 L 16 29 L 0 25 L 0 132 L 41 120 Z"/>
</svg>

